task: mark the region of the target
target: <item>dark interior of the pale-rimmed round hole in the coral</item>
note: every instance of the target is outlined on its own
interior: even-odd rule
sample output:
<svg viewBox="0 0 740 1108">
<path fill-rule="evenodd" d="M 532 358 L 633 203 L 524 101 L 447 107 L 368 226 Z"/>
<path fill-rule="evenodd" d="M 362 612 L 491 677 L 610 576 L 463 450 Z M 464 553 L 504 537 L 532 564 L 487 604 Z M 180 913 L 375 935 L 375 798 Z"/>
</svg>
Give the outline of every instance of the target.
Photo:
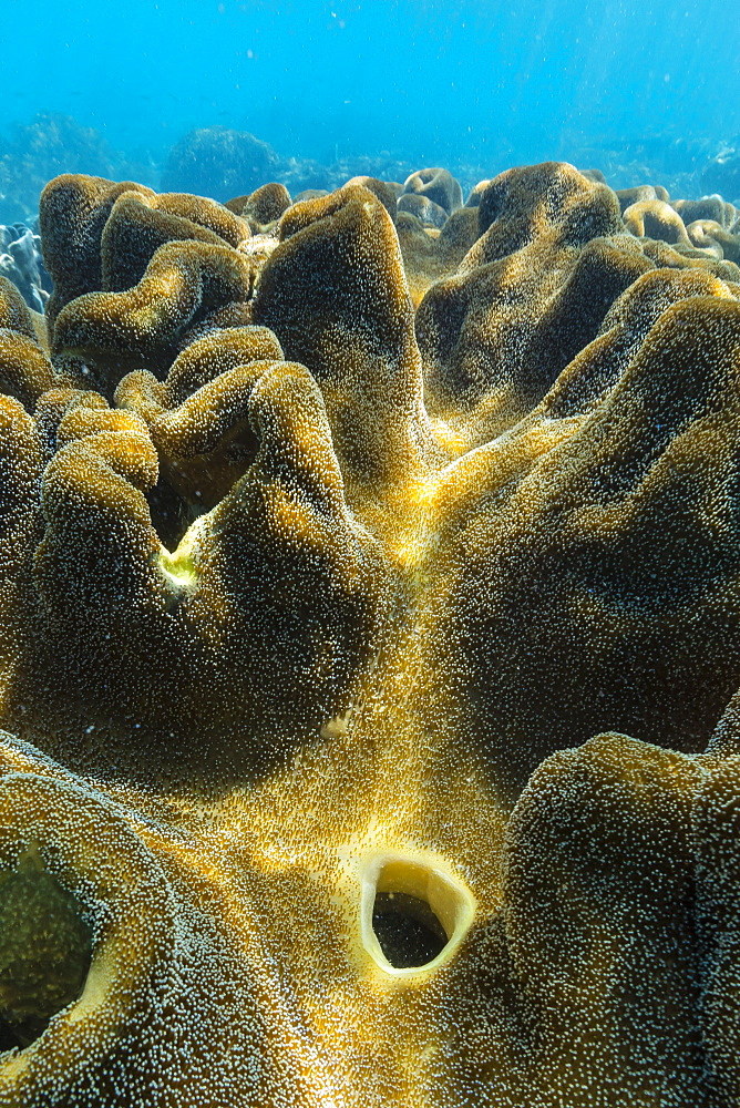
<svg viewBox="0 0 740 1108">
<path fill-rule="evenodd" d="M 409 893 L 376 893 L 372 930 L 395 970 L 432 962 L 448 945 L 448 935 L 426 901 Z"/>
</svg>

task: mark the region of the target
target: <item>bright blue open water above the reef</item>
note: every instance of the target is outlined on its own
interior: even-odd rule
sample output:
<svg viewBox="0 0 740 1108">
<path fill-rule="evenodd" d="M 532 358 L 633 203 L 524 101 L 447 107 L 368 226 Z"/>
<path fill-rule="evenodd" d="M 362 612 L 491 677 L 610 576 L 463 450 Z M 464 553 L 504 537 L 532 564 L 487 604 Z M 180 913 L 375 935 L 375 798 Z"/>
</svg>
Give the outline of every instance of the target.
<svg viewBox="0 0 740 1108">
<path fill-rule="evenodd" d="M 62 112 L 166 156 L 192 127 L 284 157 L 486 167 L 740 132 L 727 0 L 1 0 L 0 135 Z M 679 166 L 680 168 L 680 166 Z"/>
</svg>

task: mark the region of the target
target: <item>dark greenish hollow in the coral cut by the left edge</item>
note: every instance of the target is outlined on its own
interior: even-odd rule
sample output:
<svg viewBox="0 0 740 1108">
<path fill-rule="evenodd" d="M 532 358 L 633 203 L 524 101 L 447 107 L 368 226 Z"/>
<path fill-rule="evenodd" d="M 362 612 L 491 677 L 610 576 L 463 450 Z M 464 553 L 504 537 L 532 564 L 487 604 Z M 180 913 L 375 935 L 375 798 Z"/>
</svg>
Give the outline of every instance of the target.
<svg viewBox="0 0 740 1108">
<path fill-rule="evenodd" d="M 30 1046 L 76 1001 L 92 961 L 82 905 L 38 850 L 0 872 L 0 1050 Z"/>
</svg>

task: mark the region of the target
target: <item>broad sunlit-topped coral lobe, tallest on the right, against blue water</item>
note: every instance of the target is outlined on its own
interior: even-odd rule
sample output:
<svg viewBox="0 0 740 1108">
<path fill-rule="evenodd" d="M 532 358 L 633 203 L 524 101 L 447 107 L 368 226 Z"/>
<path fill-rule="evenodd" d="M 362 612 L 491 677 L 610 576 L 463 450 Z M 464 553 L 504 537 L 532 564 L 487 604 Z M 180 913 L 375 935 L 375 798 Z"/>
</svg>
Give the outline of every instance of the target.
<svg viewBox="0 0 740 1108">
<path fill-rule="evenodd" d="M 510 170 L 469 211 L 481 237 L 424 297 L 417 336 L 430 401 L 445 418 L 466 410 L 472 445 L 542 400 L 651 263 L 614 193 L 568 166 Z"/>
</svg>

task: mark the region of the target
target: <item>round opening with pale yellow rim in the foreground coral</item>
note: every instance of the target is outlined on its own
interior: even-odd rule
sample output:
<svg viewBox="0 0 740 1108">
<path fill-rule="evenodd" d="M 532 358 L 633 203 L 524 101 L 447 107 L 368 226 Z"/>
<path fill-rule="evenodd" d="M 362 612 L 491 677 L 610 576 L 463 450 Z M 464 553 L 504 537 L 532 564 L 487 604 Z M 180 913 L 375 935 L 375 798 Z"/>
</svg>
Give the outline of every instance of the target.
<svg viewBox="0 0 740 1108">
<path fill-rule="evenodd" d="M 436 858 L 381 855 L 362 875 L 362 943 L 392 976 L 436 970 L 454 954 L 475 900 Z"/>
</svg>

